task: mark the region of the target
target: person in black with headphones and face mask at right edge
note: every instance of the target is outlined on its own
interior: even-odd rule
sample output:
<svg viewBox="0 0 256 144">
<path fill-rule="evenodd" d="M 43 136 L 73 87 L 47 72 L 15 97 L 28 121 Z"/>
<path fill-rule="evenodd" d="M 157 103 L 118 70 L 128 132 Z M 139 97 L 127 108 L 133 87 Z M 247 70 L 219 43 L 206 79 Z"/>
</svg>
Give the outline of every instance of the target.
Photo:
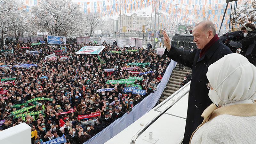
<svg viewBox="0 0 256 144">
<path fill-rule="evenodd" d="M 256 66 L 256 29 L 252 23 L 246 23 L 241 27 L 244 39 L 240 41 L 227 42 L 230 46 L 241 48 L 240 54 L 245 56 L 254 66 Z"/>
</svg>

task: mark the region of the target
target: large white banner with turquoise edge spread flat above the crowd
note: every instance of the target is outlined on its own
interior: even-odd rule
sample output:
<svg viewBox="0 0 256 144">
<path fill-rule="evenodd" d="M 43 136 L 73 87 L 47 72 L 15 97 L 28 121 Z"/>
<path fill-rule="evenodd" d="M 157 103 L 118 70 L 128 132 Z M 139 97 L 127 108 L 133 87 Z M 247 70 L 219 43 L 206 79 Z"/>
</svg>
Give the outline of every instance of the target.
<svg viewBox="0 0 256 144">
<path fill-rule="evenodd" d="M 99 54 L 105 46 L 83 46 L 76 54 Z"/>
</svg>

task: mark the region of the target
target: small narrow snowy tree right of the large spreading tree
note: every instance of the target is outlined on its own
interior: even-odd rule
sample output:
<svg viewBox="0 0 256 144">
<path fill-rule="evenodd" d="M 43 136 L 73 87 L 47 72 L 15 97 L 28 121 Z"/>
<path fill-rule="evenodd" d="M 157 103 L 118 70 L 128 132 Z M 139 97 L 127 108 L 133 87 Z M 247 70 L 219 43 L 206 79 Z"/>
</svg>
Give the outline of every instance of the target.
<svg viewBox="0 0 256 144">
<path fill-rule="evenodd" d="M 89 28 L 89 37 L 92 36 L 92 32 L 95 28 L 99 27 L 102 23 L 102 19 L 100 17 L 100 13 L 97 12 L 90 12 L 85 14 L 85 18 L 87 21 L 87 27 Z"/>
</svg>

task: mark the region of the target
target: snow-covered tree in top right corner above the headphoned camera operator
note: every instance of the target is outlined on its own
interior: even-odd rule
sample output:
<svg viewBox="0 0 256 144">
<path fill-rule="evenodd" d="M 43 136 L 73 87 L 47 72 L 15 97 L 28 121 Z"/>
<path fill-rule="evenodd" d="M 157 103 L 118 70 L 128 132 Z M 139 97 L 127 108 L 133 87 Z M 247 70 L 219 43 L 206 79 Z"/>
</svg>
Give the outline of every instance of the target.
<svg viewBox="0 0 256 144">
<path fill-rule="evenodd" d="M 234 15 L 234 12 L 232 12 Z M 251 4 L 244 2 L 244 4 L 238 5 L 236 9 L 236 17 L 234 18 L 237 25 L 242 25 L 247 22 L 256 21 L 256 0 L 253 0 Z M 233 21 L 233 17 L 231 22 Z"/>
</svg>

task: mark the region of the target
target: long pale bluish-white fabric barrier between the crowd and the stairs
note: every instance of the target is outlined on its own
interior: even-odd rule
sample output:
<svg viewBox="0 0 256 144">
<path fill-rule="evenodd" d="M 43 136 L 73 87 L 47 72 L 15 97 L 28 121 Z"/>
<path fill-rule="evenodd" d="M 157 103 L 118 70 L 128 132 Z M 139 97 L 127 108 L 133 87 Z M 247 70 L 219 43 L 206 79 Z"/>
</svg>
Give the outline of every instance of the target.
<svg viewBox="0 0 256 144">
<path fill-rule="evenodd" d="M 171 63 L 166 68 L 166 72 L 162 78 L 162 82 L 157 85 L 157 91 L 149 94 L 145 99 L 138 103 L 129 114 L 124 114 L 122 117 L 114 121 L 108 127 L 101 132 L 93 136 L 90 140 L 87 140 L 84 144 L 103 144 L 114 137 L 119 132 L 123 131 L 130 124 L 138 120 L 141 116 L 146 114 L 156 105 L 157 101 L 161 97 L 166 84 L 172 74 L 172 70 L 175 68 L 177 62 L 171 60 Z"/>
</svg>

